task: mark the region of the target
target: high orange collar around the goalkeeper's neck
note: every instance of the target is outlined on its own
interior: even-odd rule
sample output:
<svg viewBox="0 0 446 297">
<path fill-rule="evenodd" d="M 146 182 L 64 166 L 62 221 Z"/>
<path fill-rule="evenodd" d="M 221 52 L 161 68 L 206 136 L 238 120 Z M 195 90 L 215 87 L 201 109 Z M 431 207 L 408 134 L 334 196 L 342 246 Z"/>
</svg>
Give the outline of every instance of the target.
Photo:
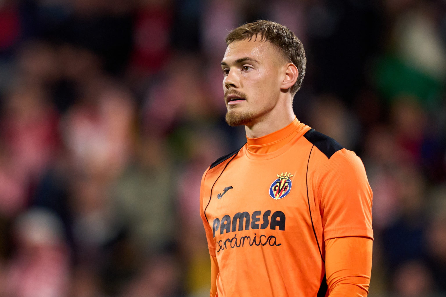
<svg viewBox="0 0 446 297">
<path fill-rule="evenodd" d="M 293 122 L 288 126 L 283 127 L 273 133 L 267 134 L 258 138 L 249 138 L 247 146 L 249 153 L 252 154 L 269 154 L 277 151 L 281 147 L 285 146 L 291 138 L 297 134 L 302 134 L 302 130 L 308 127 L 305 124 L 299 122 L 296 117 L 294 117 Z"/>
</svg>

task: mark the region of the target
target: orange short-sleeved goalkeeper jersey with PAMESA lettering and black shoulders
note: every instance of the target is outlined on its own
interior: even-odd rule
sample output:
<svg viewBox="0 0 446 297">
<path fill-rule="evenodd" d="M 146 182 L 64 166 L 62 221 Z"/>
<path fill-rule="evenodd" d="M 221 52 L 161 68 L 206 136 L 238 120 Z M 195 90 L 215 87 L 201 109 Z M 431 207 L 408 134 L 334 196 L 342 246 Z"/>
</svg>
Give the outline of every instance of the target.
<svg viewBox="0 0 446 297">
<path fill-rule="evenodd" d="M 363 163 L 297 119 L 205 171 L 200 214 L 219 297 L 325 296 L 325 240 L 373 239 Z"/>
</svg>

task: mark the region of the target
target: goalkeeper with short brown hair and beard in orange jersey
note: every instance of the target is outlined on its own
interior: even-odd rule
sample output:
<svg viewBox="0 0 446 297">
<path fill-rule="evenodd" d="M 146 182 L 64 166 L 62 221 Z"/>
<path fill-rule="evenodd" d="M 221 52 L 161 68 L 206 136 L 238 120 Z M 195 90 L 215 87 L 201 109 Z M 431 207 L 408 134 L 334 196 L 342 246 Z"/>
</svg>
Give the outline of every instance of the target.
<svg viewBox="0 0 446 297">
<path fill-rule="evenodd" d="M 301 41 L 262 20 L 226 43 L 226 121 L 248 142 L 202 178 L 211 297 L 367 296 L 372 190 L 354 152 L 293 114 Z"/>
</svg>

